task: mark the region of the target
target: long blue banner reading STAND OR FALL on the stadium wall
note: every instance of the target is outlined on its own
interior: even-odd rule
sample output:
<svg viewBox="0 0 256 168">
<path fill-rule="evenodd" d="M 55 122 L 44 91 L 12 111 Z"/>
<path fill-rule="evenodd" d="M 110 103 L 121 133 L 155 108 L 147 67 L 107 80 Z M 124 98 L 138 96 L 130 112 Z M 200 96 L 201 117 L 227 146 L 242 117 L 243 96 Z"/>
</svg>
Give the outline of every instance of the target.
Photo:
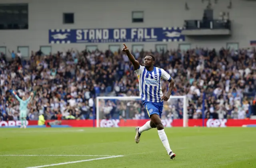
<svg viewBox="0 0 256 168">
<path fill-rule="evenodd" d="M 49 43 L 183 42 L 182 27 L 51 29 Z"/>
</svg>

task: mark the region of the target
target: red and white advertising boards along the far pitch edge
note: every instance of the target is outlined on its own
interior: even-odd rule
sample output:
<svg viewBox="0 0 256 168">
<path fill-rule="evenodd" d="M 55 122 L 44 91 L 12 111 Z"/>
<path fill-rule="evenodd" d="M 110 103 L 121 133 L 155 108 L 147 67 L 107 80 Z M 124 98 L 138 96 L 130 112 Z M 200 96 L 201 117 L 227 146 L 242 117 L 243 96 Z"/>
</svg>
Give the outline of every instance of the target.
<svg viewBox="0 0 256 168">
<path fill-rule="evenodd" d="M 47 123 L 53 120 L 47 120 Z M 102 119 L 99 120 L 100 127 L 123 127 L 123 126 L 143 126 L 148 120 L 118 120 L 118 119 L 111 119 L 106 120 Z M 189 119 L 188 126 L 202 126 L 202 119 Z M 62 120 L 61 125 L 69 125 L 73 127 L 93 127 L 96 123 L 96 120 Z M 183 126 L 182 119 L 162 119 L 162 123 L 164 127 L 176 127 L 176 126 Z M 37 125 L 38 121 L 27 121 L 26 125 Z M 20 126 L 21 121 L 0 121 L 1 126 Z M 207 127 L 229 127 L 229 126 L 250 126 L 256 125 L 256 120 L 234 120 L 234 119 L 206 119 L 204 120 L 204 125 Z"/>
</svg>

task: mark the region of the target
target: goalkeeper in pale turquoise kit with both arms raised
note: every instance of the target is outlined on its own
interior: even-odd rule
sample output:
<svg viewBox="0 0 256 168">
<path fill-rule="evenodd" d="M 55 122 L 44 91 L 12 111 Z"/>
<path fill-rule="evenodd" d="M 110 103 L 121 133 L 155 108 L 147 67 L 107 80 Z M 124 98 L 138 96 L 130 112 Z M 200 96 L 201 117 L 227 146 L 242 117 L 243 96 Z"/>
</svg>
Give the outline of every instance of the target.
<svg viewBox="0 0 256 168">
<path fill-rule="evenodd" d="M 31 92 L 30 97 L 28 97 L 28 99 L 26 99 L 25 97 L 22 97 L 22 99 L 20 99 L 20 97 L 18 97 L 18 95 L 16 94 L 15 91 L 12 91 L 12 93 L 15 95 L 15 97 L 20 102 L 20 108 L 19 108 L 19 110 L 20 110 L 20 121 L 21 121 L 20 128 L 26 128 L 26 117 L 27 117 L 27 111 L 28 111 L 28 103 L 29 103 L 31 97 L 33 97 L 34 93 Z"/>
</svg>

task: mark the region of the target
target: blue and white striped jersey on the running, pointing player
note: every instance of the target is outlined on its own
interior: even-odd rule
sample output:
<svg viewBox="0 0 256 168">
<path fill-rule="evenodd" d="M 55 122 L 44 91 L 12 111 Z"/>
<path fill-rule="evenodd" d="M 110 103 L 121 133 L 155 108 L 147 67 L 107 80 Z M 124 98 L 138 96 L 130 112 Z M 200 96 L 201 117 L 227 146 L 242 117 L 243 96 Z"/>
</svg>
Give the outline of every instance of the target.
<svg viewBox="0 0 256 168">
<path fill-rule="evenodd" d="M 141 65 L 135 72 L 139 79 L 141 99 L 154 103 L 161 102 L 161 97 L 163 96 L 161 78 L 170 82 L 171 76 L 164 69 L 154 67 L 153 71 L 147 71 Z"/>
</svg>

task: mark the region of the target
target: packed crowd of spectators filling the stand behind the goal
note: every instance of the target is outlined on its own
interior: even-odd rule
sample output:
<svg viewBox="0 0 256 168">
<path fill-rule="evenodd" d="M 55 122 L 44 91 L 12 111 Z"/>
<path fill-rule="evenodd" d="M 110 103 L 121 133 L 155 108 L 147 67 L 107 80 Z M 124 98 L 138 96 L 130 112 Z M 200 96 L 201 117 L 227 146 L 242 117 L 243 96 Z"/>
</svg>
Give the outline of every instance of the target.
<svg viewBox="0 0 256 168">
<path fill-rule="evenodd" d="M 187 95 L 188 117 L 245 119 L 256 115 L 256 50 L 201 49 L 188 51 L 133 51 L 143 64 L 148 53 L 155 55 L 156 67 L 175 80 L 172 95 Z M 35 96 L 29 104 L 28 120 L 93 119 L 95 97 L 139 96 L 136 73 L 122 51 L 74 51 L 44 55 L 32 52 L 30 60 L 12 54 L 0 57 L 0 120 L 18 120 L 20 97 Z M 162 81 L 166 92 L 168 82 Z M 204 100 L 204 102 L 203 102 Z M 100 118 L 147 119 L 141 101 L 100 101 Z M 182 119 L 183 99 L 164 103 L 162 118 Z"/>
</svg>

